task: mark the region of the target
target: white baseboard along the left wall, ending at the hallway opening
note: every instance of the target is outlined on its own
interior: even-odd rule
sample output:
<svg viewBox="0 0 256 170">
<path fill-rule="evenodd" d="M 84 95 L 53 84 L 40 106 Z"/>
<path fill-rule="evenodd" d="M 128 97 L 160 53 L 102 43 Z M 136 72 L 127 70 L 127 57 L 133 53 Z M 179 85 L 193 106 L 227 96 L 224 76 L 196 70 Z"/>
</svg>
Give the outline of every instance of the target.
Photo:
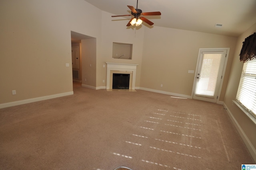
<svg viewBox="0 0 256 170">
<path fill-rule="evenodd" d="M 42 100 L 48 100 L 48 99 L 68 96 L 68 95 L 72 95 L 72 94 L 74 94 L 73 91 L 66 92 L 66 93 L 53 94 L 50 96 L 42 96 L 42 97 L 30 98 L 30 99 L 26 99 L 26 100 L 19 100 L 19 101 L 15 101 L 15 102 L 3 103 L 3 104 L 0 104 L 0 108 L 7 108 L 7 107 L 17 106 L 17 105 L 21 105 L 21 104 L 38 102 L 38 101 L 42 101 Z"/>
</svg>

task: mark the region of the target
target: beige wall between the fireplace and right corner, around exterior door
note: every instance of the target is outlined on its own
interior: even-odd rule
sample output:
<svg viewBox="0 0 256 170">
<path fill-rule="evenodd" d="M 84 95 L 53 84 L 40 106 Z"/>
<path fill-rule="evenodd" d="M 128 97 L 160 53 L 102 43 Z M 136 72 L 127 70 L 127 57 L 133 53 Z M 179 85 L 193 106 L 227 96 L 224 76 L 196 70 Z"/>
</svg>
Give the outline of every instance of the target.
<svg viewBox="0 0 256 170">
<path fill-rule="evenodd" d="M 162 28 L 145 29 L 140 87 L 191 96 L 199 48 L 230 48 L 232 61 L 237 38 Z M 224 76 L 224 100 L 230 64 Z M 196 70 L 195 70 L 196 72 Z M 163 84 L 163 87 L 160 87 Z"/>
</svg>

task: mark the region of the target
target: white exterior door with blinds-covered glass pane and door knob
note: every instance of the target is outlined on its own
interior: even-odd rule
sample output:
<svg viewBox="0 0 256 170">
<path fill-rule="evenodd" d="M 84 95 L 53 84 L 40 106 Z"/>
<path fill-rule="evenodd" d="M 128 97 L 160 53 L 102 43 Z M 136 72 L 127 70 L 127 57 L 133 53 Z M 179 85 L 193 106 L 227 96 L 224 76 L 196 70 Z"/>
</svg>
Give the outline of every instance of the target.
<svg viewBox="0 0 256 170">
<path fill-rule="evenodd" d="M 203 49 L 198 54 L 193 98 L 216 103 L 220 95 L 227 49 Z"/>
</svg>

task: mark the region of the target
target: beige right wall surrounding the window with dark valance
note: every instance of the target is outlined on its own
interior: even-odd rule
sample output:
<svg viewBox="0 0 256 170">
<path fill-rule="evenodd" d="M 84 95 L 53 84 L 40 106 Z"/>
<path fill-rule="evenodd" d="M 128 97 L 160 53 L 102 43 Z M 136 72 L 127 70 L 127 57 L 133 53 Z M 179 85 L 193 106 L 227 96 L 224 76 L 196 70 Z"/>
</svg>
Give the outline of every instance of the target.
<svg viewBox="0 0 256 170">
<path fill-rule="evenodd" d="M 224 99 L 224 104 L 228 108 L 231 118 L 234 119 L 233 122 L 238 128 L 241 136 L 245 140 L 247 146 L 251 145 L 254 148 L 254 160 L 256 160 L 256 124 L 254 124 L 244 112 L 232 100 L 236 100 L 236 93 L 238 90 L 240 77 L 242 74 L 243 62 L 240 62 L 240 50 L 242 48 L 242 43 L 245 38 L 256 32 L 256 24 L 254 24 L 250 29 L 244 32 L 238 37 L 236 44 L 236 50 L 234 52 L 234 60 L 232 62 L 232 68 L 230 71 L 230 76 L 228 80 L 228 86 L 226 90 L 226 96 Z M 246 139 L 247 138 L 247 139 Z M 247 140 L 247 141 L 246 141 Z M 249 142 L 248 142 L 249 141 Z M 252 152 L 252 150 L 250 150 Z"/>
</svg>

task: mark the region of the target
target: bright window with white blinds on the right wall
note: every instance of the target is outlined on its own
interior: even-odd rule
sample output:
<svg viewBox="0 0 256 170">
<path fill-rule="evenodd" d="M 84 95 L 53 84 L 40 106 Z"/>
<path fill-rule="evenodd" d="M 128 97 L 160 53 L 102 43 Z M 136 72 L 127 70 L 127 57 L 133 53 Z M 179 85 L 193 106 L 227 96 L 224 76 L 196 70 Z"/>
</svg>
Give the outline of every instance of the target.
<svg viewBox="0 0 256 170">
<path fill-rule="evenodd" d="M 256 60 L 244 63 L 236 100 L 256 117 Z"/>
</svg>

